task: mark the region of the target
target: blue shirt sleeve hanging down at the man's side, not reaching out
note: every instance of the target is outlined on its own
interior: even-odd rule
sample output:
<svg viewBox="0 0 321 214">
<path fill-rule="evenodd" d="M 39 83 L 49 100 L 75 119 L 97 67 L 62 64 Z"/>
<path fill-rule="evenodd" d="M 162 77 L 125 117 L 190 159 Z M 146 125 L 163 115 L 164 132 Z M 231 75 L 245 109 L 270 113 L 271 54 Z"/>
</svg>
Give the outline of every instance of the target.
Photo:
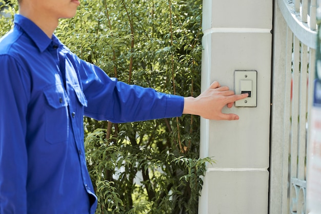
<svg viewBox="0 0 321 214">
<path fill-rule="evenodd" d="M 30 82 L 8 55 L 0 55 L 0 213 L 27 213 L 27 109 Z"/>
</svg>

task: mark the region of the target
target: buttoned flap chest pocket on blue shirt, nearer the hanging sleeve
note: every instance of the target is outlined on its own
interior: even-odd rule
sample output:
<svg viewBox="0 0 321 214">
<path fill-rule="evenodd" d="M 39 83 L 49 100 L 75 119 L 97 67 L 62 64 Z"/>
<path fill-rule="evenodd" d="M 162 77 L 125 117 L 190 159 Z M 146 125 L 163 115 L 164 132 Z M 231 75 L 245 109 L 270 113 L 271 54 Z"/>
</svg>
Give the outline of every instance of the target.
<svg viewBox="0 0 321 214">
<path fill-rule="evenodd" d="M 69 97 L 62 84 L 44 90 L 48 105 L 45 106 L 45 139 L 51 144 L 66 142 L 69 133 Z"/>
</svg>

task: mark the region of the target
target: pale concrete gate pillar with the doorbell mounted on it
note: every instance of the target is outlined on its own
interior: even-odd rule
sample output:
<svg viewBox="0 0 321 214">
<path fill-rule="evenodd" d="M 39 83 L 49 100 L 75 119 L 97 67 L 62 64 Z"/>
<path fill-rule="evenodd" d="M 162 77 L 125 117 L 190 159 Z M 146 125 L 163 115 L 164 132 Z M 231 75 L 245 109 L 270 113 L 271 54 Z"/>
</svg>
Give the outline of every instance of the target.
<svg viewBox="0 0 321 214">
<path fill-rule="evenodd" d="M 208 165 L 200 214 L 268 213 L 272 0 L 204 0 L 202 90 L 214 80 L 234 90 L 235 70 L 257 71 L 257 107 L 224 109 L 238 121 L 201 120 Z"/>
</svg>

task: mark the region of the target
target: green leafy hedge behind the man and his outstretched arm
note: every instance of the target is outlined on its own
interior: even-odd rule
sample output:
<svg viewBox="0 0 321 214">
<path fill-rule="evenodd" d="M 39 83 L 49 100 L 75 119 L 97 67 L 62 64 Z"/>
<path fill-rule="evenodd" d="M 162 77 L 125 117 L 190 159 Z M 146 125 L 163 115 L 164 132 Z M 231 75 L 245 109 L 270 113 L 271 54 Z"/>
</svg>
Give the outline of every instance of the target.
<svg viewBox="0 0 321 214">
<path fill-rule="evenodd" d="M 0 16 L 1 36 L 11 15 Z M 202 0 L 83 0 L 55 34 L 111 77 L 195 97 L 201 26 Z M 96 213 L 197 213 L 206 163 L 213 162 L 199 159 L 199 117 L 124 124 L 85 117 L 84 127 Z"/>
</svg>

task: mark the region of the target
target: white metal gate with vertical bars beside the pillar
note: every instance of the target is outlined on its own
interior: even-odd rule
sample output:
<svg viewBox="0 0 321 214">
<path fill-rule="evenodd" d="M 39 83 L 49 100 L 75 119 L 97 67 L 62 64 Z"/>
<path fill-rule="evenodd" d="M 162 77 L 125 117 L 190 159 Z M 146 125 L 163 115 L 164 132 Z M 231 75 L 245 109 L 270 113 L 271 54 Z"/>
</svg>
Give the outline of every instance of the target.
<svg viewBox="0 0 321 214">
<path fill-rule="evenodd" d="M 269 213 L 308 213 L 307 130 L 315 73 L 316 0 L 275 0 L 273 35 Z"/>
</svg>

